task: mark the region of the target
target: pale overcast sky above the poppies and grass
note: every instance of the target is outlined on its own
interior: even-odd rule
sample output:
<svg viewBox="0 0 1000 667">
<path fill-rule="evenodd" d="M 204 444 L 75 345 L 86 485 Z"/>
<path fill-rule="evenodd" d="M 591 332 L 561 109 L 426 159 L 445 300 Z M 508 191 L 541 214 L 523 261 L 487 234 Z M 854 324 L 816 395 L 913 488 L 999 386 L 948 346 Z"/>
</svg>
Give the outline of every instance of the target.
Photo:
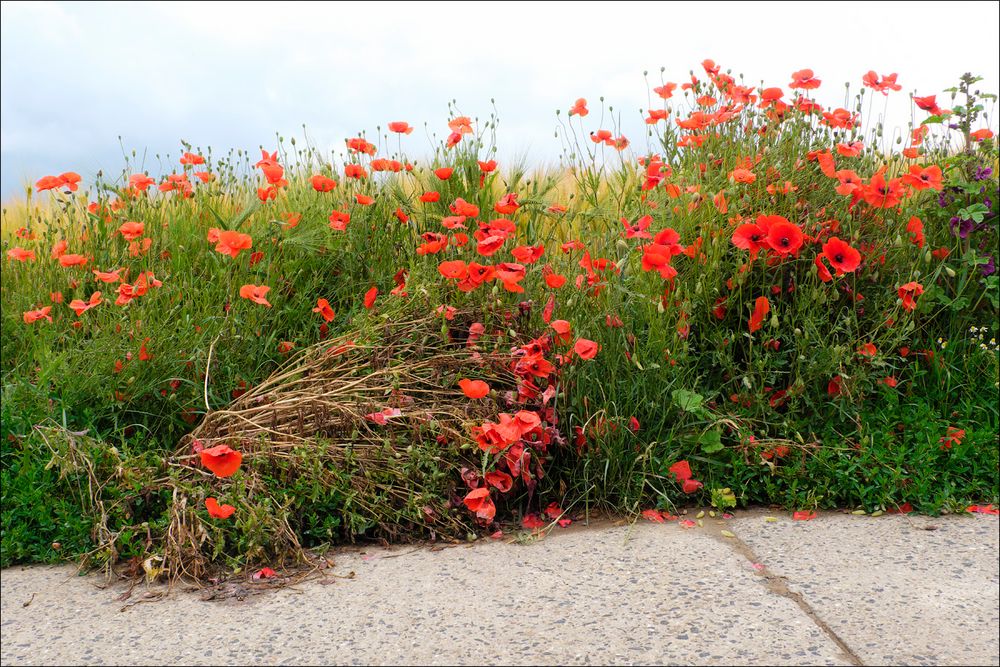
<svg viewBox="0 0 1000 667">
<path fill-rule="evenodd" d="M 644 144 L 643 71 L 683 82 L 712 58 L 747 83 L 787 84 L 812 68 L 817 101 L 869 69 L 907 94 L 939 93 L 971 71 L 997 91 L 998 16 L 988 3 L 16 3 L 2 5 L 2 197 L 67 170 L 86 180 L 125 146 L 179 154 L 273 145 L 305 123 L 321 147 L 405 120 L 447 133 L 447 104 L 485 117 L 496 100 L 501 156 L 553 162 L 555 110 L 577 97 L 622 111 Z M 881 108 L 879 107 L 879 112 Z M 597 129 L 595 115 L 593 121 Z M 996 129 L 996 121 L 990 120 Z M 158 167 L 153 164 L 154 171 Z"/>
</svg>

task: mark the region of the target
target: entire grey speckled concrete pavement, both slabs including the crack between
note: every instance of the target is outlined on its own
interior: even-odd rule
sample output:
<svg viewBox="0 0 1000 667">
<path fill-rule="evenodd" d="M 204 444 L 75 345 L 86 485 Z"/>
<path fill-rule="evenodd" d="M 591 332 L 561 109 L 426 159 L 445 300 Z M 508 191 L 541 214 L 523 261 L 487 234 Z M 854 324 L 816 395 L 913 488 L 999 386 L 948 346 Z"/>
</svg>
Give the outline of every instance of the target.
<svg viewBox="0 0 1000 667">
<path fill-rule="evenodd" d="M 311 580 L 212 601 L 144 585 L 117 600 L 124 585 L 69 566 L 13 567 L 0 662 L 1000 664 L 995 516 L 703 524 L 342 550 Z"/>
</svg>

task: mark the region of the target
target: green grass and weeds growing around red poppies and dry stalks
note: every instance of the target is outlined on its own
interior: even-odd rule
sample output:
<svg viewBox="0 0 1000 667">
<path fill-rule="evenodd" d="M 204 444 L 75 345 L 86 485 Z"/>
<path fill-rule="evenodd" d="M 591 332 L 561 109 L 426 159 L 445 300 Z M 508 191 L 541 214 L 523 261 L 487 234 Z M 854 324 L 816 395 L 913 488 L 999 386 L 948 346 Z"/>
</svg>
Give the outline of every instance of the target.
<svg viewBox="0 0 1000 667">
<path fill-rule="evenodd" d="M 456 308 L 459 318 L 440 319 L 420 335 L 459 351 L 473 321 L 486 324 L 480 347 L 494 353 L 509 355 L 550 334 L 544 355 L 557 371 L 538 384 L 553 388 L 552 402 L 506 403 L 503 392 L 523 387 L 523 379 L 494 386 L 489 399 L 496 412 L 535 411 L 552 438 L 525 443 L 542 467 L 515 475 L 509 492 L 491 492 L 498 519 L 516 519 L 549 502 L 625 513 L 670 508 L 707 502 L 713 489 L 724 487 L 741 505 L 790 509 L 874 511 L 909 502 L 934 513 L 997 502 L 998 356 L 988 339 L 997 335 L 998 283 L 996 274 L 981 271 L 997 252 L 995 142 L 970 143 L 956 153 L 952 132 L 931 118 L 925 122 L 934 130 L 922 154 L 906 158 L 891 150 L 871 119 L 867 129 L 831 128 L 817 113 L 789 110 L 779 118 L 756 105 L 701 131 L 679 129 L 673 118 L 686 118 L 696 97 L 724 99 L 716 84 L 724 82 L 703 80 L 677 93 L 671 119 L 650 126 L 645 150 L 637 148 L 640 138 L 624 152 L 591 142 L 596 109 L 588 119 L 561 121 L 564 166 L 550 172 L 501 165 L 483 173 L 478 161 L 496 154 L 491 117 L 476 122 L 476 132 L 454 148 L 436 146 L 427 160 L 403 152 L 406 138 L 370 137 L 380 157 L 415 167 L 361 180 L 345 177 L 344 167 L 370 169 L 364 154 L 330 155 L 281 142 L 277 155 L 287 185 L 273 200 L 258 198 L 266 183 L 256 155 L 220 157 L 208 149 L 196 151 L 206 165 L 177 169 L 215 175 L 206 184 L 190 176 L 190 198 L 153 188 L 130 196 L 128 176 L 137 172 L 130 164 L 120 177 L 91 184 L 86 196 L 28 193 L 23 205 L 5 211 L 2 227 L 5 253 L 18 246 L 37 256 L 23 263 L 5 259 L 2 267 L 2 563 L 163 554 L 170 548 L 168 527 L 185 512 L 200 517 L 192 521 L 210 535 L 208 559 L 231 567 L 281 558 L 296 542 L 427 534 L 424 505 L 454 517 L 455 525 L 473 525 L 462 504 L 469 489 L 455 473 L 453 455 L 479 461 L 473 477 L 512 470 L 502 454 L 477 448 L 482 419 L 473 420 L 471 412 L 456 425 L 467 433 L 461 442 L 439 450 L 440 443 L 415 440 L 418 451 L 406 459 L 412 466 L 389 466 L 390 486 L 409 482 L 412 491 L 423 480 L 426 497 L 412 492 L 405 502 L 360 494 L 358 482 L 368 472 L 317 458 L 321 440 L 279 461 L 250 456 L 247 470 L 224 482 L 196 475 L 178 458 L 182 438 L 206 412 L 224 408 L 286 360 L 282 343 L 297 351 L 342 334 L 377 342 L 386 322 L 423 318 L 442 305 Z M 866 102 L 867 92 L 854 103 Z M 954 134 L 965 135 L 963 124 L 977 122 L 990 99 L 978 97 L 956 104 L 961 127 Z M 692 135 L 703 143 L 678 148 Z M 860 155 L 836 152 L 838 143 L 851 141 L 865 142 Z M 837 169 L 866 181 L 881 169 L 891 180 L 914 164 L 940 164 L 943 183 L 906 191 L 898 206 L 852 202 L 837 191 L 838 179 L 809 159 L 822 150 L 833 151 Z M 653 153 L 669 173 L 647 189 L 637 158 Z M 981 168 L 991 165 L 992 175 L 982 176 Z M 435 176 L 440 166 L 454 169 L 449 180 Z M 754 182 L 732 178 L 746 167 Z M 338 187 L 315 191 L 309 177 L 319 173 Z M 795 189 L 783 192 L 785 182 Z M 939 202 L 942 189 L 947 197 Z M 431 190 L 440 200 L 421 201 Z M 501 214 L 494 206 L 506 194 L 516 194 L 520 206 Z M 374 203 L 360 205 L 357 195 Z M 725 212 L 719 196 L 727 201 Z M 988 196 L 992 208 L 984 204 Z M 495 255 L 478 254 L 476 239 L 462 244 L 463 230 L 442 226 L 459 198 L 479 208 L 481 223 L 515 222 Z M 90 201 L 96 212 L 88 211 Z M 334 209 L 350 212 L 345 231 L 330 228 Z M 286 223 L 290 214 L 301 216 L 297 226 Z M 651 233 L 672 228 L 688 249 L 671 260 L 672 280 L 643 266 L 648 240 L 625 238 L 622 219 L 632 224 L 646 215 Z M 767 251 L 752 259 L 735 247 L 734 230 L 759 215 L 797 225 L 807 236 L 802 249 L 769 261 Z M 907 231 L 912 216 L 923 222 L 923 245 Z M 952 232 L 953 217 L 974 219 L 978 227 L 962 238 Z M 148 249 L 130 250 L 118 233 L 125 221 L 144 223 Z M 471 237 L 476 220 L 464 224 Z M 249 234 L 253 248 L 236 258 L 223 255 L 207 240 L 211 228 Z M 417 252 L 428 233 L 447 234 L 448 247 Z M 857 271 L 824 281 L 814 260 L 831 236 L 859 249 L 864 261 Z M 63 267 L 51 258 L 59 240 L 68 252 L 88 257 L 86 267 Z M 583 249 L 564 251 L 571 241 Z M 446 260 L 516 262 L 514 247 L 539 244 L 545 248 L 540 261 L 524 263 L 523 293 L 499 281 L 462 291 L 438 270 Z M 588 270 L 586 256 L 604 267 Z M 129 282 L 152 272 L 163 284 L 118 306 L 117 285 L 98 282 L 94 268 L 127 268 Z M 391 293 L 401 270 L 405 296 Z M 565 276 L 566 285 L 549 287 L 549 271 Z M 910 282 L 923 288 L 913 310 L 898 292 Z M 269 286 L 272 307 L 241 298 L 245 284 Z M 379 296 L 369 309 L 364 295 L 371 287 Z M 74 315 L 67 304 L 95 291 L 104 302 Z M 53 303 L 53 293 L 63 302 Z M 770 310 L 760 329 L 750 331 L 759 297 Z M 336 311 L 329 323 L 313 312 L 320 298 Z M 550 319 L 570 322 L 573 339 L 599 344 L 594 359 L 570 359 L 572 344 L 551 339 L 550 303 Z M 53 322 L 23 321 L 23 313 L 45 305 L 52 305 Z M 620 326 L 609 324 L 615 320 Z M 987 333 L 980 340 L 970 327 Z M 874 355 L 860 354 L 868 344 Z M 479 372 L 470 357 L 467 377 Z M 834 396 L 829 386 L 838 377 Z M 449 377 L 441 391 L 457 392 L 457 379 Z M 391 389 L 385 404 L 365 410 L 401 400 Z M 51 437 L 47 443 L 45 434 L 53 432 L 34 428 L 39 424 L 88 435 L 72 445 Z M 965 436 L 942 449 L 949 428 Z M 787 453 L 774 456 L 776 448 Z M 700 491 L 684 494 L 669 473 L 680 460 L 704 483 Z M 84 474 L 86 462 L 92 472 Z M 209 493 L 238 500 L 234 520 L 206 518 L 199 503 Z M 183 508 L 181 500 L 188 503 Z"/>
</svg>

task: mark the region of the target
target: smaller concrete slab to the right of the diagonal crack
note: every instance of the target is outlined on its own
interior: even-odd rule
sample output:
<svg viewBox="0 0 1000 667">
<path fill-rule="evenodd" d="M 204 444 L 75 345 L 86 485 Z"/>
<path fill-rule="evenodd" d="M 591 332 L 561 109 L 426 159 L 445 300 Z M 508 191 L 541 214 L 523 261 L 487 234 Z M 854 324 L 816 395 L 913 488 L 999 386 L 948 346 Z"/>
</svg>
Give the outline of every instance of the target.
<svg viewBox="0 0 1000 667">
<path fill-rule="evenodd" d="M 730 530 L 866 664 L 1000 664 L 995 516 L 852 516 Z"/>
</svg>

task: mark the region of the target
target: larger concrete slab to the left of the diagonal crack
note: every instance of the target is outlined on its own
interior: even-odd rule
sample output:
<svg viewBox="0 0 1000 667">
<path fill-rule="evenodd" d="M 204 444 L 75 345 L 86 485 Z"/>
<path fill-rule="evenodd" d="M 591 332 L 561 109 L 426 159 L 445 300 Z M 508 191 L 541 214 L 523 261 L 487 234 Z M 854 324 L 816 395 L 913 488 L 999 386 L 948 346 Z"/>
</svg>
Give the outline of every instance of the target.
<svg viewBox="0 0 1000 667">
<path fill-rule="evenodd" d="M 4 665 L 850 664 L 707 528 L 574 526 L 529 545 L 335 560 L 335 572 L 355 578 L 244 602 L 175 590 L 125 611 L 114 600 L 121 589 L 98 590 L 100 578 L 10 568 L 0 574 L 0 657 Z"/>
</svg>

